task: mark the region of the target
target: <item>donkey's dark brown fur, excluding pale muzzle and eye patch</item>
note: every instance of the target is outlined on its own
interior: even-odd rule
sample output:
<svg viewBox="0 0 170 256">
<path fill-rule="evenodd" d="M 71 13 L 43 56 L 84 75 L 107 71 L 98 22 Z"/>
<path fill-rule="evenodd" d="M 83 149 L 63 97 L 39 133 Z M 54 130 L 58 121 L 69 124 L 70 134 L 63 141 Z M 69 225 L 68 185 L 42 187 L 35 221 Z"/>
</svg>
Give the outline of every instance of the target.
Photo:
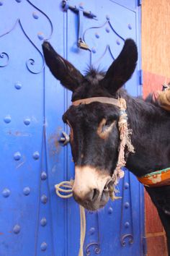
<svg viewBox="0 0 170 256">
<path fill-rule="evenodd" d="M 128 124 L 133 129 L 132 142 L 135 153 L 127 155 L 127 168 L 136 176 L 170 167 L 170 113 L 154 103 L 133 98 L 121 89 L 135 69 L 138 52 L 133 40 L 126 40 L 120 55 L 109 67 L 106 74 L 91 69 L 83 76 L 72 64 L 55 53 L 52 46 L 43 44 L 45 61 L 55 77 L 73 91 L 72 101 L 82 98 L 106 96 L 125 98 L 128 106 Z M 78 166 L 94 166 L 107 170 L 112 175 L 117 164 L 117 149 L 120 143 L 117 121 L 119 109 L 102 103 L 71 106 L 63 115 L 73 129 L 71 149 L 73 160 Z M 115 121 L 112 132 L 103 140 L 97 135 L 102 119 L 106 119 L 102 129 Z M 82 157 L 83 155 L 83 157 Z M 156 205 L 166 230 L 170 255 L 170 186 L 148 188 L 147 192 Z"/>
</svg>

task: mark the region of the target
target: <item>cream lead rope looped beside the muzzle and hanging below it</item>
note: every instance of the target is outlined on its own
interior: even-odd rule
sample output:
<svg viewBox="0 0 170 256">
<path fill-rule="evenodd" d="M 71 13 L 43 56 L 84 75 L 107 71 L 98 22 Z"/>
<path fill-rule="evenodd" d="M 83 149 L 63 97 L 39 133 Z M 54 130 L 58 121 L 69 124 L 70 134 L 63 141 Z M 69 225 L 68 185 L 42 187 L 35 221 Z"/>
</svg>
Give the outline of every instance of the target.
<svg viewBox="0 0 170 256">
<path fill-rule="evenodd" d="M 70 198 L 73 196 L 72 193 L 72 187 L 73 187 L 73 179 L 71 179 L 70 182 L 61 182 L 59 184 L 55 185 L 55 192 L 58 195 L 58 197 L 61 198 Z M 65 193 L 66 195 L 61 194 Z M 84 256 L 84 239 L 86 235 L 86 215 L 84 207 L 79 205 L 80 209 L 80 247 L 79 247 L 79 256 Z"/>
</svg>

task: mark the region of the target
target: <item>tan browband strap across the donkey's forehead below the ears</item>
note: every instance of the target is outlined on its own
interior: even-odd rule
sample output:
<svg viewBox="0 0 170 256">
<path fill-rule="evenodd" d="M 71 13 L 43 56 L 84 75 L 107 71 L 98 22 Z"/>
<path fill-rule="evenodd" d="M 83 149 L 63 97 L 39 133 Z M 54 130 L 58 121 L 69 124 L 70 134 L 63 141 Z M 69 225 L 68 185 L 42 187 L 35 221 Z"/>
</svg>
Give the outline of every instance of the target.
<svg viewBox="0 0 170 256">
<path fill-rule="evenodd" d="M 78 101 L 73 101 L 72 105 L 79 106 L 80 104 L 89 104 L 92 102 L 107 103 L 107 104 L 112 104 L 114 106 L 117 106 L 119 108 L 121 107 L 119 100 L 117 100 L 116 98 L 109 98 L 109 97 L 84 98 Z"/>
</svg>

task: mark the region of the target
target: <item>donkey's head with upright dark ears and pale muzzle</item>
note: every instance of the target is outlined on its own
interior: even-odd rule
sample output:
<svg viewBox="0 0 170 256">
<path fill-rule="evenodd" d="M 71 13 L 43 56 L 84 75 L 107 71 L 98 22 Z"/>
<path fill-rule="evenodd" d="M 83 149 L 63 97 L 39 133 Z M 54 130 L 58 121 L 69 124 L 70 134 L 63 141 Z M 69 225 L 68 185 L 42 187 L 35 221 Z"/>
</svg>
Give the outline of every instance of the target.
<svg viewBox="0 0 170 256">
<path fill-rule="evenodd" d="M 73 92 L 73 102 L 91 97 L 117 98 L 117 91 L 130 79 L 138 59 L 135 42 L 128 39 L 106 74 L 91 69 L 84 76 L 58 55 L 50 43 L 45 41 L 42 48 L 50 71 Z M 117 164 L 120 141 L 119 112 L 117 106 L 92 102 L 72 105 L 63 114 L 63 121 L 71 128 L 73 197 L 89 210 L 97 210 L 109 200 L 107 186 Z"/>
</svg>

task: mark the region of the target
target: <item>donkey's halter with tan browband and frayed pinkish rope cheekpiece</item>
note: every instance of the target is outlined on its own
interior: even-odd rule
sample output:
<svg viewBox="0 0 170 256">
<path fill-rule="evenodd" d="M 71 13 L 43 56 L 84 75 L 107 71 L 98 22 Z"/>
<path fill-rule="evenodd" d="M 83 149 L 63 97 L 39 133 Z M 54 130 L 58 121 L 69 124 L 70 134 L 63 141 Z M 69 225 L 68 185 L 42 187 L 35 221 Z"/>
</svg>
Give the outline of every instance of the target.
<svg viewBox="0 0 170 256">
<path fill-rule="evenodd" d="M 120 108 L 120 117 L 118 121 L 118 129 L 120 132 L 120 145 L 118 148 L 119 155 L 117 159 L 117 166 L 113 171 L 112 177 L 107 182 L 107 184 L 112 183 L 112 187 L 109 188 L 109 195 L 112 200 L 115 200 L 115 186 L 118 184 L 119 180 L 124 176 L 124 171 L 122 171 L 122 167 L 125 166 L 125 147 L 128 149 L 128 153 L 135 153 L 134 147 L 131 142 L 130 135 L 132 134 L 132 129 L 128 129 L 128 114 L 126 113 L 126 101 L 124 98 L 108 98 L 108 97 L 93 97 L 93 98 L 84 98 L 78 101 L 73 101 L 73 106 L 79 106 L 81 104 L 89 104 L 93 102 L 99 102 L 104 104 L 111 104 Z"/>
</svg>

